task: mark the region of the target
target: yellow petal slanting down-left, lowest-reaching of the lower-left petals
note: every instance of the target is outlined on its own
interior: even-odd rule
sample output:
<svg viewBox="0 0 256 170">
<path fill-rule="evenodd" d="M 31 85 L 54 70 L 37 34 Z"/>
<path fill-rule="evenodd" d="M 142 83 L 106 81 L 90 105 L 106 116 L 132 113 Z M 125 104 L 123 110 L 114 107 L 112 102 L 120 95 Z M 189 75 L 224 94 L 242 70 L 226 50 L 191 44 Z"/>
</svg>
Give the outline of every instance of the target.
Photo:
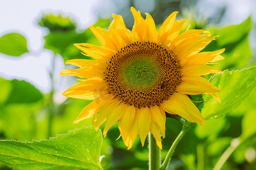
<svg viewBox="0 0 256 170">
<path fill-rule="evenodd" d="M 127 104 L 120 103 L 112 111 L 110 111 L 110 116 L 108 118 L 108 121 L 106 122 L 105 129 L 103 131 L 104 137 L 106 137 L 106 134 L 108 133 L 108 130 L 112 125 L 115 124 L 115 122 L 119 121 L 119 119 L 125 114 L 127 109 Z"/>
</svg>

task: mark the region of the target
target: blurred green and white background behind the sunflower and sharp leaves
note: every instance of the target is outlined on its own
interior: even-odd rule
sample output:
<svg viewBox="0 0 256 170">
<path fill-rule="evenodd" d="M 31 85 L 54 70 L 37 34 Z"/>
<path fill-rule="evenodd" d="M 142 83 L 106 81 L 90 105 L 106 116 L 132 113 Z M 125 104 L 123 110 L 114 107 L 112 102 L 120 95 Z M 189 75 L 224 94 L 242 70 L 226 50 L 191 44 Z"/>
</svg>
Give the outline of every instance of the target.
<svg viewBox="0 0 256 170">
<path fill-rule="evenodd" d="M 220 70 L 255 66 L 256 1 L 254 0 L 75 0 L 7 1 L 0 6 L 0 139 L 32 141 L 91 125 L 91 120 L 72 122 L 90 101 L 68 99 L 61 93 L 77 82 L 61 76 L 71 68 L 65 61 L 86 58 L 73 43 L 100 45 L 89 25 L 107 28 L 111 14 L 123 16 L 127 28 L 134 19 L 130 7 L 148 12 L 156 26 L 173 11 L 188 19 L 184 30 L 206 29 L 220 35 L 205 50 L 226 48 L 226 59 L 214 64 Z M 220 89 L 221 90 L 221 89 Z M 176 148 L 168 169 L 212 169 L 222 153 L 243 133 L 247 115 L 256 114 L 255 90 L 227 116 L 195 126 Z M 255 124 L 255 120 L 251 120 Z M 180 122 L 167 118 L 162 158 L 181 130 Z M 255 126 L 255 125 L 254 125 Z M 104 127 L 104 125 L 102 126 Z M 148 150 L 139 139 L 127 151 L 117 125 L 102 143 L 104 169 L 147 169 Z M 256 137 L 234 150 L 224 169 L 256 169 Z M 9 169 L 0 164 L 0 169 Z"/>
</svg>

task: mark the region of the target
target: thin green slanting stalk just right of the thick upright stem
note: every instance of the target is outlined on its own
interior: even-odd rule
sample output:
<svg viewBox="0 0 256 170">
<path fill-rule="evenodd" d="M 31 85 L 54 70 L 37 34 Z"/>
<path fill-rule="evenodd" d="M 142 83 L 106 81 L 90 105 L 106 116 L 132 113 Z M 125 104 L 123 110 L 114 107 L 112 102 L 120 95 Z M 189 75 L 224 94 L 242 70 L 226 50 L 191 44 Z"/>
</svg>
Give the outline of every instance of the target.
<svg viewBox="0 0 256 170">
<path fill-rule="evenodd" d="M 159 168 L 159 170 L 165 170 L 171 160 L 172 155 L 174 154 L 175 148 L 180 142 L 181 138 L 187 133 L 187 131 L 191 128 L 191 126 L 183 125 L 182 130 L 180 131 L 180 134 L 175 139 L 174 143 L 172 143 L 172 146 L 170 147 L 170 150 L 168 151 L 166 158 L 164 159 L 164 162 L 162 166 Z"/>
</svg>

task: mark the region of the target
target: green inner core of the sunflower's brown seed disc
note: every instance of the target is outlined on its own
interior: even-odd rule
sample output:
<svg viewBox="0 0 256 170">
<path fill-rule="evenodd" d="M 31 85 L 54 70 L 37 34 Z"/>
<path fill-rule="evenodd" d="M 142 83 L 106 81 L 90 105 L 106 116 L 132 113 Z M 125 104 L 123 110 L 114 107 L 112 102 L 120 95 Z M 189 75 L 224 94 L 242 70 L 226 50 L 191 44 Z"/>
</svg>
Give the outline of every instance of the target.
<svg viewBox="0 0 256 170">
<path fill-rule="evenodd" d="M 152 61 L 140 59 L 127 65 L 123 76 L 130 88 L 150 88 L 156 82 L 159 70 Z"/>
</svg>

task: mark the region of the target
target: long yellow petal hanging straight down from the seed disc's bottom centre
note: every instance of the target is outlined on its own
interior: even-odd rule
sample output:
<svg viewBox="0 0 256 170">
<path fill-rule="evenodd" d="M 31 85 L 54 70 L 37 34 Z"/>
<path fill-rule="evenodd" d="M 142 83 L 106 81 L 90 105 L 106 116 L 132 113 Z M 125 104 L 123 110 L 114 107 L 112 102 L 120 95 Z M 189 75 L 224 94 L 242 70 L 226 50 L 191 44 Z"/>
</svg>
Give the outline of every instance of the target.
<svg viewBox="0 0 256 170">
<path fill-rule="evenodd" d="M 148 132 L 150 131 L 150 124 L 151 124 L 150 109 L 148 107 L 138 109 L 137 119 L 138 119 L 139 136 L 141 137 L 142 146 L 144 146 L 145 139 L 147 137 Z"/>
</svg>

